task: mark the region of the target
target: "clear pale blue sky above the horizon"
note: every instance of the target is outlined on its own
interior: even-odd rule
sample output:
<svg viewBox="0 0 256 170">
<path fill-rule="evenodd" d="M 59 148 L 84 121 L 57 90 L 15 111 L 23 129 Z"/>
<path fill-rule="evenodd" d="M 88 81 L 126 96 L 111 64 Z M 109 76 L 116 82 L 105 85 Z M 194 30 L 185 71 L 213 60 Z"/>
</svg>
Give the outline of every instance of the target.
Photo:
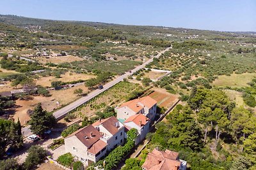
<svg viewBox="0 0 256 170">
<path fill-rule="evenodd" d="M 0 0 L 0 14 L 214 31 L 256 31 L 256 0 Z"/>
</svg>

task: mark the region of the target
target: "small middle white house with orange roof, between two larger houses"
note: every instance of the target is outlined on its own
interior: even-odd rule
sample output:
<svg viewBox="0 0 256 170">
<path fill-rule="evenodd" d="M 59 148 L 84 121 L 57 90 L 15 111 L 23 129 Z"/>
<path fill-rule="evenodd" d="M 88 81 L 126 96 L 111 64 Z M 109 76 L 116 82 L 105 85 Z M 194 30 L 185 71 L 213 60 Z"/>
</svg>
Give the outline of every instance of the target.
<svg viewBox="0 0 256 170">
<path fill-rule="evenodd" d="M 149 132 L 149 118 L 145 117 L 141 113 L 132 115 L 124 121 L 124 125 L 127 129 L 135 128 L 138 130 L 138 137 L 136 138 L 135 145 L 138 145 L 143 139 L 145 139 Z"/>
</svg>

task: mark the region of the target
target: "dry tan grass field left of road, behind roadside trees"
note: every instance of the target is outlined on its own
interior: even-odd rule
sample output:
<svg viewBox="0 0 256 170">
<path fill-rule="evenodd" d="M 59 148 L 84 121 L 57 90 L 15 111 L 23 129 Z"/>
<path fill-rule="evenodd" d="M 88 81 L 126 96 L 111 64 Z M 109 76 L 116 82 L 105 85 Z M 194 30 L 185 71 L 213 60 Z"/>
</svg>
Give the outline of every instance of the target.
<svg viewBox="0 0 256 170">
<path fill-rule="evenodd" d="M 77 74 L 77 73 L 70 73 L 67 72 L 65 74 L 61 74 L 61 78 L 54 78 L 54 76 L 47 76 L 47 77 L 41 77 L 38 80 L 36 80 L 36 85 L 42 85 L 43 87 L 51 87 L 52 81 L 63 81 L 63 82 L 69 82 L 69 81 L 76 81 L 76 80 L 88 80 L 90 78 L 95 78 L 96 76 L 93 74 Z"/>
</svg>

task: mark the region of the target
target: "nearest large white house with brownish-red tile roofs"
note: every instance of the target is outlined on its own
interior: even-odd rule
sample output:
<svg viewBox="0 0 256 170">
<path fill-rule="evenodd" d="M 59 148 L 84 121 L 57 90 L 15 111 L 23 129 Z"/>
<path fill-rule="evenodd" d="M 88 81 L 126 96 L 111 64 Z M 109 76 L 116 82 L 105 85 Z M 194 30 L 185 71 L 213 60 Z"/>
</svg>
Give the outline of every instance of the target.
<svg viewBox="0 0 256 170">
<path fill-rule="evenodd" d="M 70 134 L 64 139 L 65 152 L 88 166 L 103 157 L 107 150 L 123 145 L 124 138 L 124 124 L 115 117 L 109 117 Z"/>
</svg>

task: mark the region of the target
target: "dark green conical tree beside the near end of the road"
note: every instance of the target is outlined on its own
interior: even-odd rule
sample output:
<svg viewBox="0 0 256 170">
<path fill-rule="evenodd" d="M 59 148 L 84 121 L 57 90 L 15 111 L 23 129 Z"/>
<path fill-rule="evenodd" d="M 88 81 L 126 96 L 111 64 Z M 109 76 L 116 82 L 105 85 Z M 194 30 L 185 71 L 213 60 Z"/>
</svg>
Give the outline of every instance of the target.
<svg viewBox="0 0 256 170">
<path fill-rule="evenodd" d="M 29 124 L 31 125 L 30 129 L 32 132 L 42 136 L 45 131 L 51 129 L 56 124 L 56 118 L 52 113 L 47 113 L 47 111 L 43 110 L 42 104 L 38 103 L 33 115 L 31 115 Z"/>
</svg>

